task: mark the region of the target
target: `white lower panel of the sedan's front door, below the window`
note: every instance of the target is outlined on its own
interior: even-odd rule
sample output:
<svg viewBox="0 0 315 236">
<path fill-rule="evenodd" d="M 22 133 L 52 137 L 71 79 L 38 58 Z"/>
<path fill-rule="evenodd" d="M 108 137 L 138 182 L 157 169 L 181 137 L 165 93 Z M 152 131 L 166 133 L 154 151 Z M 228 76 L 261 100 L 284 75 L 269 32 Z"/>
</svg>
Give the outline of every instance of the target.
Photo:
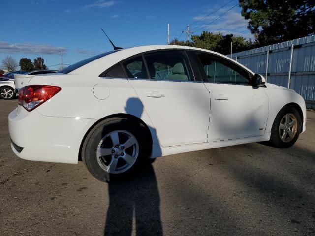
<svg viewBox="0 0 315 236">
<path fill-rule="evenodd" d="M 264 88 L 217 83 L 205 85 L 211 97 L 209 141 L 265 134 L 268 97 Z M 221 97 L 226 100 L 221 100 Z"/>
</svg>

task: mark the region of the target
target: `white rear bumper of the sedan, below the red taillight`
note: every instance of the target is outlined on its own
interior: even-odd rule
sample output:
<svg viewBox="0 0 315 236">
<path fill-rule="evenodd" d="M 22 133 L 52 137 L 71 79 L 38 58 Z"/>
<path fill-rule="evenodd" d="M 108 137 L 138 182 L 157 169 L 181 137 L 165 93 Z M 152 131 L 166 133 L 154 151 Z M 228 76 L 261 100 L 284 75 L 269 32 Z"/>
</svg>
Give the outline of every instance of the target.
<svg viewBox="0 0 315 236">
<path fill-rule="evenodd" d="M 8 116 L 11 148 L 26 160 L 76 164 L 83 137 L 95 121 L 47 117 L 20 107 Z"/>
</svg>

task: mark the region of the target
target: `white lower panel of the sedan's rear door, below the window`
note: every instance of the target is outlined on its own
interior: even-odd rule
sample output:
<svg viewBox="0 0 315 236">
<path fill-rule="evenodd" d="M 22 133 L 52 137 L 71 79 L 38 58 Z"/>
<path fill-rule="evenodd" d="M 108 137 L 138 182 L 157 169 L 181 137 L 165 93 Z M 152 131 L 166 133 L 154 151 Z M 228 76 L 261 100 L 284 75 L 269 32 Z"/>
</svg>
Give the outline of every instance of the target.
<svg viewBox="0 0 315 236">
<path fill-rule="evenodd" d="M 163 147 L 208 141 L 210 95 L 203 83 L 129 81 L 149 114 Z M 160 93 L 164 97 L 148 97 L 150 93 Z"/>
</svg>

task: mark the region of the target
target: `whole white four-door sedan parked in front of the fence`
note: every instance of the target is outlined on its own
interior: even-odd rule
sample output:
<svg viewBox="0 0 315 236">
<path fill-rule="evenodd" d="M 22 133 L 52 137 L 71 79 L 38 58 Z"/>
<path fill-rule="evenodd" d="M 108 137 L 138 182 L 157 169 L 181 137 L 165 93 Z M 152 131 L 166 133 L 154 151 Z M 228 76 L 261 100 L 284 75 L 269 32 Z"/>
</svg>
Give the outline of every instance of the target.
<svg viewBox="0 0 315 236">
<path fill-rule="evenodd" d="M 305 131 L 299 94 L 203 49 L 115 50 L 16 80 L 24 87 L 8 117 L 14 153 L 83 160 L 102 181 L 146 158 L 259 141 L 288 148 Z"/>
</svg>

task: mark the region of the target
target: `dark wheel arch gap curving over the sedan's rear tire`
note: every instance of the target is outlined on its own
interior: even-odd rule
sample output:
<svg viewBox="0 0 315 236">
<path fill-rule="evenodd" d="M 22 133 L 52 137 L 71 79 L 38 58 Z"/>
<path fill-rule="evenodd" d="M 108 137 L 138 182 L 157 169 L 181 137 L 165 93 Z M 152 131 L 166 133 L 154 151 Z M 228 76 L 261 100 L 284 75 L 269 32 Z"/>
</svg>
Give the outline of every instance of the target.
<svg viewBox="0 0 315 236">
<path fill-rule="evenodd" d="M 150 129 L 148 127 L 148 125 L 140 118 L 136 117 L 136 116 L 133 116 L 133 115 L 130 115 L 130 114 L 127 114 L 127 113 L 117 113 L 117 114 L 112 114 L 112 115 L 109 115 L 109 116 L 106 116 L 104 118 L 101 118 L 99 120 L 97 120 L 89 129 L 88 131 L 85 133 L 85 135 L 83 136 L 83 139 L 81 141 L 81 144 L 80 144 L 80 148 L 79 148 L 79 154 L 78 154 L 78 161 L 82 161 L 82 157 L 81 157 L 81 151 L 82 151 L 82 146 L 83 146 L 83 143 L 87 137 L 87 135 L 90 133 L 90 131 L 95 127 L 95 125 L 97 125 L 99 122 L 105 120 L 105 119 L 108 119 L 108 118 L 126 118 L 126 119 L 129 119 L 129 120 L 132 120 L 132 122 L 135 122 L 135 123 L 138 123 L 138 124 L 141 124 L 143 125 L 144 127 L 144 130 L 145 130 L 145 135 L 146 137 L 149 139 L 150 141 L 150 147 L 149 147 L 149 150 L 148 152 L 150 153 L 149 155 L 151 155 L 152 153 L 152 144 L 153 144 L 153 140 L 152 140 L 152 134 L 150 132 Z"/>
</svg>

